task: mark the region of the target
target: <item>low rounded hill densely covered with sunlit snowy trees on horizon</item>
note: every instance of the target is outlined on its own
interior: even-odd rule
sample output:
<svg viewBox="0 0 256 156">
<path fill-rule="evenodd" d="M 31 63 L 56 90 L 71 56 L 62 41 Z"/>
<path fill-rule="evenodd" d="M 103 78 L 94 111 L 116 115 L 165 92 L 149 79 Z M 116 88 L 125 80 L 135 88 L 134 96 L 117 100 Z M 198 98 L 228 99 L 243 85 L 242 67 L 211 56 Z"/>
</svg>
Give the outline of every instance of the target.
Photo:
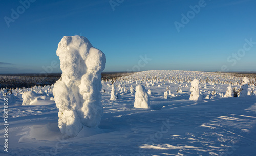
<svg viewBox="0 0 256 156">
<path fill-rule="evenodd" d="M 248 77 L 250 84 L 256 85 L 256 74 L 239 74 L 239 73 L 220 73 L 220 72 L 199 72 L 199 71 L 176 71 L 176 70 L 151 70 L 142 71 L 130 76 L 118 77 L 118 81 L 153 81 L 153 82 L 170 82 L 191 83 L 194 79 L 204 84 L 230 84 L 242 85 L 243 77 Z"/>
</svg>

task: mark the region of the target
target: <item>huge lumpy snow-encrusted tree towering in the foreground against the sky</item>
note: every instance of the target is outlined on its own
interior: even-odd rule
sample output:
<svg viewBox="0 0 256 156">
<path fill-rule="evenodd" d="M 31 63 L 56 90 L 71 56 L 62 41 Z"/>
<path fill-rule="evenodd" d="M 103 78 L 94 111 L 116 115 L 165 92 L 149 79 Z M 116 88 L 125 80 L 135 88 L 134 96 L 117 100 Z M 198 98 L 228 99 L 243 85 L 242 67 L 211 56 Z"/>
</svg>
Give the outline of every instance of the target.
<svg viewBox="0 0 256 156">
<path fill-rule="evenodd" d="M 59 109 L 58 126 L 62 134 L 75 137 L 83 125 L 97 127 L 103 115 L 100 102 L 101 72 L 106 58 L 82 36 L 64 36 L 58 44 L 61 78 L 53 95 Z"/>
</svg>

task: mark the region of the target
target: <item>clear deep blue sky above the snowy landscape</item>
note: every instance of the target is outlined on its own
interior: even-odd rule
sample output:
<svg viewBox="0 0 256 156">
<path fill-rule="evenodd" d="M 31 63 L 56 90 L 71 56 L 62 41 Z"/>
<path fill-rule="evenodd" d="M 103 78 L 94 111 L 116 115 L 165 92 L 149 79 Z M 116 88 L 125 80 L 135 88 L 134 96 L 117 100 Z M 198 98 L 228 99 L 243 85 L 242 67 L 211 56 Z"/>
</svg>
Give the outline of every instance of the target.
<svg viewBox="0 0 256 156">
<path fill-rule="evenodd" d="M 103 51 L 104 71 L 256 71 L 253 0 L 21 1 L 1 1 L 0 73 L 61 72 L 65 35 Z"/>
</svg>

